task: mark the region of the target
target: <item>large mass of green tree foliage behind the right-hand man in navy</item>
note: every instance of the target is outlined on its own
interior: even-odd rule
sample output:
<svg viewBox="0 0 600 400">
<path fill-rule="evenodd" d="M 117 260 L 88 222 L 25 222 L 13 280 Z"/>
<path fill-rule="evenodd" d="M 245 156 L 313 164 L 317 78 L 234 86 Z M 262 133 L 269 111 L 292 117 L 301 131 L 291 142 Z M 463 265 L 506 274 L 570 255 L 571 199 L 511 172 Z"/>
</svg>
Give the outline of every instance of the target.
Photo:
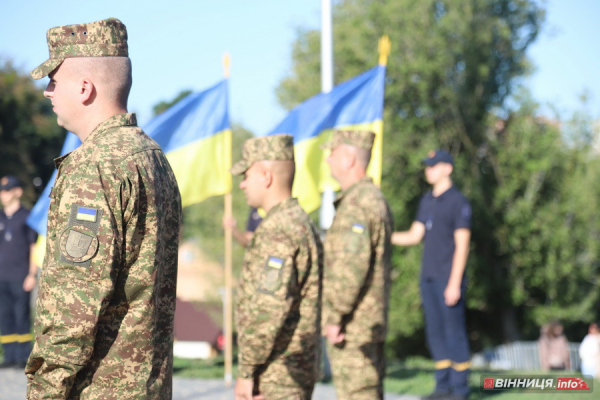
<svg viewBox="0 0 600 400">
<path fill-rule="evenodd" d="M 340 0 L 334 8 L 336 83 L 372 68 L 377 40 L 391 39 L 382 189 L 397 229 L 409 228 L 429 189 L 421 164 L 428 150 L 455 156 L 453 178 L 474 208 L 474 350 L 535 339 L 551 318 L 569 333 L 599 316 L 599 160 L 589 118 L 574 118 L 567 135 L 565 124 L 536 118 L 519 89 L 544 18 L 533 0 Z M 292 69 L 277 88 L 288 109 L 320 91 L 319 35 L 298 31 Z M 425 350 L 421 251 L 394 254 L 388 339 L 396 356 Z"/>
</svg>

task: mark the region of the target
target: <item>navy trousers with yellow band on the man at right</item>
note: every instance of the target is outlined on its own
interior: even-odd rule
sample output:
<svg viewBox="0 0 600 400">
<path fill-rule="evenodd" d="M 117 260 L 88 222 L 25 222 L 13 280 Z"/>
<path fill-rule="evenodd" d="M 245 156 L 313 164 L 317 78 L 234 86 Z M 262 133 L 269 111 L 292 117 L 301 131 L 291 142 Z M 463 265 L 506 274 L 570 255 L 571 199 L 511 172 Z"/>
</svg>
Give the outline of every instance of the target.
<svg viewBox="0 0 600 400">
<path fill-rule="evenodd" d="M 458 303 L 448 307 L 444 299 L 447 280 L 421 279 L 427 344 L 435 360 L 436 392 L 469 393 L 471 368 L 465 328 L 465 284 Z"/>
</svg>

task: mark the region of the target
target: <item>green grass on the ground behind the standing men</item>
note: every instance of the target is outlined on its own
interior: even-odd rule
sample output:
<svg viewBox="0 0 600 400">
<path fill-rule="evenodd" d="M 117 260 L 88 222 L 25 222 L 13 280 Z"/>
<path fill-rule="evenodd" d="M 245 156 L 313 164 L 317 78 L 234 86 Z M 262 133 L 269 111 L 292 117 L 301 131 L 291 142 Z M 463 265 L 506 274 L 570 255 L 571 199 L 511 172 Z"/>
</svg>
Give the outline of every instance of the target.
<svg viewBox="0 0 600 400">
<path fill-rule="evenodd" d="M 235 378 L 237 365 L 233 366 L 233 375 Z M 185 358 L 175 358 L 174 361 L 175 376 L 201 378 L 201 379 L 222 379 L 224 374 L 224 359 L 222 356 L 211 360 L 192 360 Z M 388 364 L 387 375 L 385 378 L 385 391 L 397 394 L 410 394 L 423 396 L 433 392 L 434 389 L 434 368 L 431 360 L 414 357 L 404 362 L 391 362 Z M 594 388 L 591 393 L 584 392 L 483 392 L 481 389 L 481 376 L 501 378 L 506 377 L 532 377 L 536 375 L 547 376 L 548 374 L 536 374 L 525 372 L 510 371 L 489 371 L 476 369 L 471 373 L 469 385 L 471 387 L 470 400 L 595 400 L 600 399 L 600 387 Z M 573 376 L 580 377 L 578 374 L 553 373 L 555 376 Z M 589 380 L 586 379 L 589 384 Z"/>
</svg>

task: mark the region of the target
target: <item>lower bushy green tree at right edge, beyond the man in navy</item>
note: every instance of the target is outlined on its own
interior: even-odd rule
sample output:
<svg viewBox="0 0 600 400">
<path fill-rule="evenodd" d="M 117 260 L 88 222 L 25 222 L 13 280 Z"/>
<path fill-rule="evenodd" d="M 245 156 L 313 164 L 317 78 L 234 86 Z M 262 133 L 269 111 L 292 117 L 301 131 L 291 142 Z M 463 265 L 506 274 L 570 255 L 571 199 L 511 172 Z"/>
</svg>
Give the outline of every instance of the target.
<svg viewBox="0 0 600 400">
<path fill-rule="evenodd" d="M 535 117 L 535 103 L 516 99 L 521 106 L 506 120 L 490 116 L 486 129 L 479 191 L 486 197 L 474 230 L 485 240 L 476 239 L 470 271 L 471 306 L 482 317 L 475 329 L 484 322 L 503 332 L 496 340 L 535 339 L 555 318 L 573 331 L 598 315 L 599 254 L 590 240 L 600 227 L 593 211 L 598 156 L 589 141 L 572 140 L 589 132 L 574 120 L 567 140 L 564 124 Z"/>
</svg>

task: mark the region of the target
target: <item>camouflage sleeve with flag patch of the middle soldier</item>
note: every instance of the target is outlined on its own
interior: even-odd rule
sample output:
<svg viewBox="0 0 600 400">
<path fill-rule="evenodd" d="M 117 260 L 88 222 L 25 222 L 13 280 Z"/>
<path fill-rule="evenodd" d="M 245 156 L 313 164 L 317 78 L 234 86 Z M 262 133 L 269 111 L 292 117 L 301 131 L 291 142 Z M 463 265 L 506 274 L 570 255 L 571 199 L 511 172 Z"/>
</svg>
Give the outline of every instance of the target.
<svg viewBox="0 0 600 400">
<path fill-rule="evenodd" d="M 262 232 L 245 268 L 251 271 L 252 293 L 238 315 L 239 373 L 252 376 L 267 362 L 286 318 L 299 298 L 298 257 L 294 240 L 277 232 Z"/>
</svg>

